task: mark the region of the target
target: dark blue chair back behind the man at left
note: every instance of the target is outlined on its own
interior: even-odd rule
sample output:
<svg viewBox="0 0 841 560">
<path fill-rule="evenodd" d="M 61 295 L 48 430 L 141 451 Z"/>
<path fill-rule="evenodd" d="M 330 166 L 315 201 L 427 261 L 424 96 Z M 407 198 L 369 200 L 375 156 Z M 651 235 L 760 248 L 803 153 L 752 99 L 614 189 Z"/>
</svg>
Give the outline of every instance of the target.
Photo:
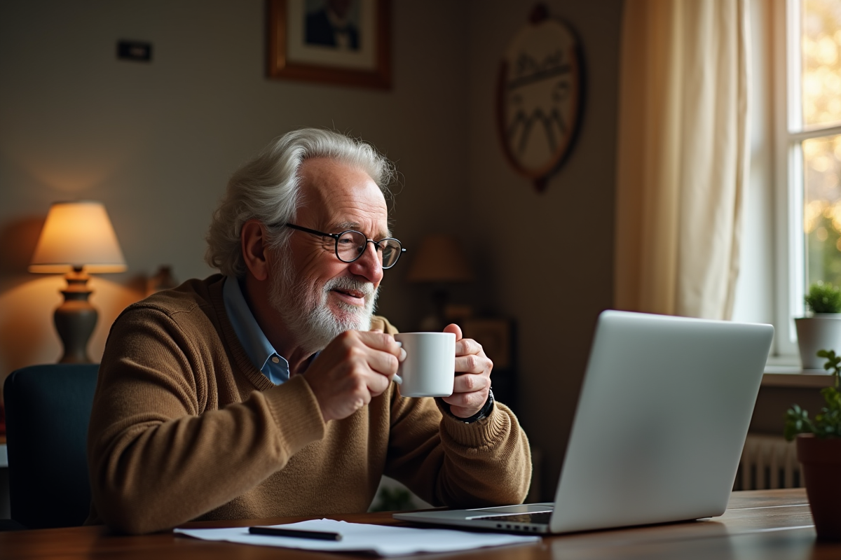
<svg viewBox="0 0 841 560">
<path fill-rule="evenodd" d="M 17 369 L 3 385 L 9 505 L 28 529 L 79 526 L 91 507 L 87 424 L 98 364 Z"/>
</svg>

